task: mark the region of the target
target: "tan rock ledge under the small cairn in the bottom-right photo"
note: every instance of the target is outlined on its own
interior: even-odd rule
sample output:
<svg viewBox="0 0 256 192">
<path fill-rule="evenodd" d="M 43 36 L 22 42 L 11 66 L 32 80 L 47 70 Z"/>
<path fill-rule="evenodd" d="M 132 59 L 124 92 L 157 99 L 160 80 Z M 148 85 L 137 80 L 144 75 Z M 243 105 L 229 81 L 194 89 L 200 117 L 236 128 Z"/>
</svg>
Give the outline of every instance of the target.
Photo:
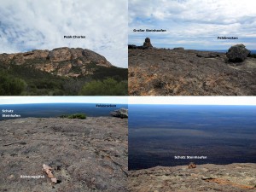
<svg viewBox="0 0 256 192">
<path fill-rule="evenodd" d="M 130 192 L 256 191 L 256 164 L 163 167 L 130 171 Z"/>
</svg>

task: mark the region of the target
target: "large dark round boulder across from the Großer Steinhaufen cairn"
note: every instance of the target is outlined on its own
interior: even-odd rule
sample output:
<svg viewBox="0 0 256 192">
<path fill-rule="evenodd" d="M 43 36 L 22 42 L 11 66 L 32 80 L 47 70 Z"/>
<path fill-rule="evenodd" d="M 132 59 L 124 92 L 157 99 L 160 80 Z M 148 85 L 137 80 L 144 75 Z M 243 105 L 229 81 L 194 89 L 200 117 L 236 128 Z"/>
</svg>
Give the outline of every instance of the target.
<svg viewBox="0 0 256 192">
<path fill-rule="evenodd" d="M 241 62 L 244 61 L 249 54 L 250 51 L 246 49 L 243 44 L 236 44 L 230 47 L 226 55 L 231 62 Z"/>
</svg>

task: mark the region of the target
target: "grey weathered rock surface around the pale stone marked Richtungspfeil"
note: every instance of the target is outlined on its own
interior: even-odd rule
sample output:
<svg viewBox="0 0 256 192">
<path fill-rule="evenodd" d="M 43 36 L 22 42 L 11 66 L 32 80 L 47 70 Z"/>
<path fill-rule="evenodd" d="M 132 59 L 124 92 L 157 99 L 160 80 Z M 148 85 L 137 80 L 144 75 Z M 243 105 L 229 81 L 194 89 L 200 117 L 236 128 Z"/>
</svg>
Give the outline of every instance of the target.
<svg viewBox="0 0 256 192">
<path fill-rule="evenodd" d="M 127 190 L 127 119 L 26 118 L 0 125 L 0 191 Z M 54 169 L 54 185 L 43 164 Z"/>
</svg>

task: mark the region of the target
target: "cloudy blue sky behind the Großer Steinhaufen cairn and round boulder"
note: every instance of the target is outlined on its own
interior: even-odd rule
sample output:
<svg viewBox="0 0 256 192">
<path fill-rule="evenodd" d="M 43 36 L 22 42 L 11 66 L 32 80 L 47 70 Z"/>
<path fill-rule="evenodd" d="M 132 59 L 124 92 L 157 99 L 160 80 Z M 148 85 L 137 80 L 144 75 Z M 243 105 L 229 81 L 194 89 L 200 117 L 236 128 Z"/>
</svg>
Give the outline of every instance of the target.
<svg viewBox="0 0 256 192">
<path fill-rule="evenodd" d="M 129 0 L 129 44 L 151 38 L 154 47 L 229 49 L 245 44 L 256 49 L 255 0 Z M 133 32 L 165 29 L 166 32 Z M 218 40 L 237 37 L 237 40 Z"/>
</svg>

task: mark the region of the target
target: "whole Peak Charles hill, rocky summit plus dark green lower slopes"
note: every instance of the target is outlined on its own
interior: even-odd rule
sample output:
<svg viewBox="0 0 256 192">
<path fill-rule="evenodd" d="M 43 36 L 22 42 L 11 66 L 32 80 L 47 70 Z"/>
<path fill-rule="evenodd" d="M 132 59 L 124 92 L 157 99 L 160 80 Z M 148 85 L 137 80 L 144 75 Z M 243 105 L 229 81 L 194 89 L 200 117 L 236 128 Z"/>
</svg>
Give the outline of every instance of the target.
<svg viewBox="0 0 256 192">
<path fill-rule="evenodd" d="M 79 92 L 84 84 L 104 79 L 112 79 L 115 84 L 122 82 L 119 86 L 125 90 L 127 71 L 114 67 L 104 56 L 90 49 L 63 47 L 3 53 L 0 54 L 0 73 L 6 79 L 0 79 L 0 95 L 94 95 Z M 12 92 L 6 89 L 8 86 L 14 89 L 18 86 L 21 90 Z"/>
</svg>

